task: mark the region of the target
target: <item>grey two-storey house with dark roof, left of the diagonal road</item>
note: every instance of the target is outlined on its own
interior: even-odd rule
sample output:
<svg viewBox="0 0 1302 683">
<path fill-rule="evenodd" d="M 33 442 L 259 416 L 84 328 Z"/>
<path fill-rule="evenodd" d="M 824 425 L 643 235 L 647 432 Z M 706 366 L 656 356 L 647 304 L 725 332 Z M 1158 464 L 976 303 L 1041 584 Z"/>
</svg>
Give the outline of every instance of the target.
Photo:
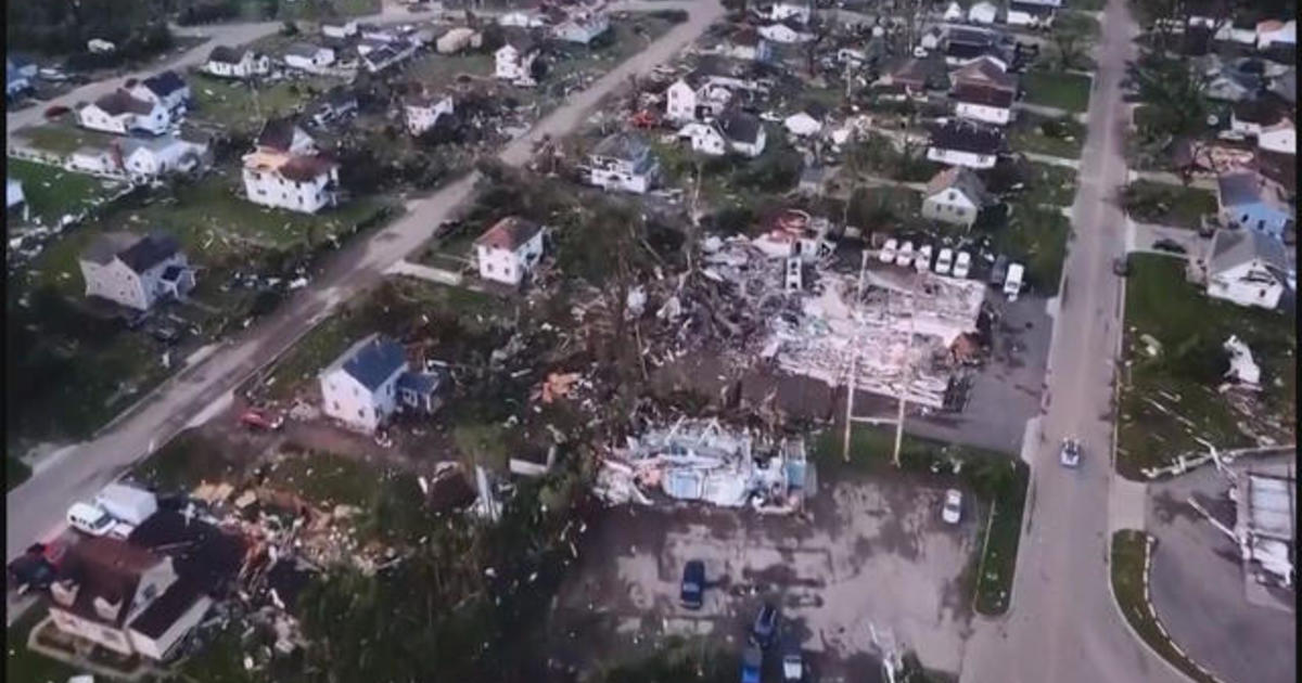
<svg viewBox="0 0 1302 683">
<path fill-rule="evenodd" d="M 194 271 L 176 239 L 165 233 L 102 233 L 81 254 L 86 295 L 137 311 L 194 289 Z"/>
</svg>

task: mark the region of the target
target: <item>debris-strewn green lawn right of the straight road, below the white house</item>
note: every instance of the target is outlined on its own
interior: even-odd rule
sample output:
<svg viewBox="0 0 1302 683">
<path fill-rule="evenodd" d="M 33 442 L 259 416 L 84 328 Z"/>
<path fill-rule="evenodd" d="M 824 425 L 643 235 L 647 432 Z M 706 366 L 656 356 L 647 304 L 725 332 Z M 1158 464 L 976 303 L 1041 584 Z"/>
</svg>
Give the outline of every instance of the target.
<svg viewBox="0 0 1302 683">
<path fill-rule="evenodd" d="M 1122 475 L 1142 479 L 1144 467 L 1202 453 L 1199 438 L 1220 449 L 1255 445 L 1243 428 L 1284 444 L 1297 438 L 1294 315 L 1211 299 L 1185 281 L 1181 261 L 1155 254 L 1130 256 L 1125 315 L 1117 428 Z M 1161 345 L 1156 358 L 1142 334 Z M 1243 410 L 1216 390 L 1228 367 L 1221 343 L 1230 334 L 1247 343 L 1262 367 L 1262 394 Z"/>
</svg>

